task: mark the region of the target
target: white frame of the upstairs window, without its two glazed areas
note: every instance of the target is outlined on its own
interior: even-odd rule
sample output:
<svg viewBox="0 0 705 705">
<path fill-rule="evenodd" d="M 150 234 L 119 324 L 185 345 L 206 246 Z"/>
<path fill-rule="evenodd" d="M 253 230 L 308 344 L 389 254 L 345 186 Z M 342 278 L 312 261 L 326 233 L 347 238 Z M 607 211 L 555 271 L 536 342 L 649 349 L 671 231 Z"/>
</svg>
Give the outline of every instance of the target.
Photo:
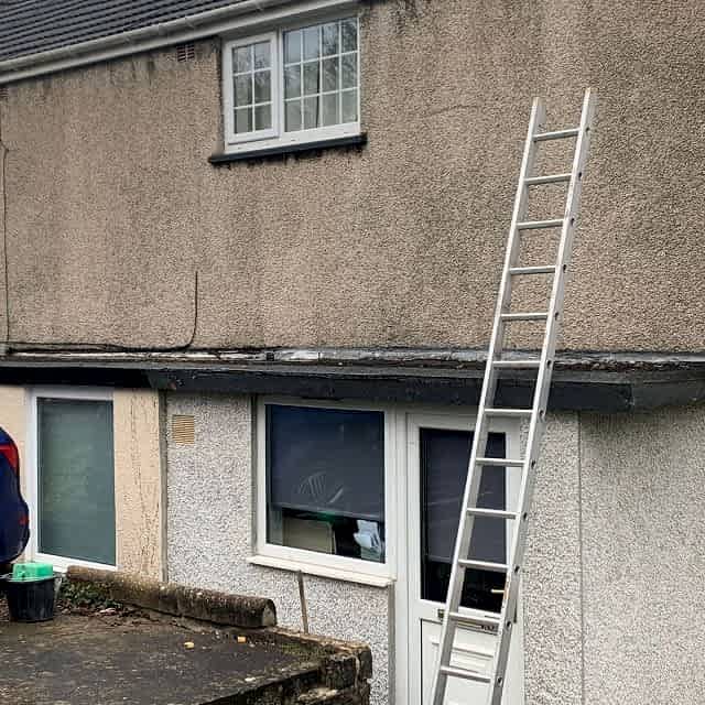
<svg viewBox="0 0 705 705">
<path fill-rule="evenodd" d="M 296 132 L 284 131 L 284 33 L 303 28 L 325 24 L 355 18 L 357 20 L 357 120 Z M 232 50 L 262 41 L 271 42 L 272 56 L 272 129 L 237 134 L 235 132 L 235 99 L 232 87 Z M 360 134 L 360 94 L 361 94 L 361 56 L 360 56 L 360 19 L 355 12 L 336 13 L 334 15 L 300 19 L 278 26 L 267 33 L 242 35 L 223 42 L 223 118 L 225 152 L 240 153 L 276 147 L 324 142 L 343 137 Z"/>
</svg>

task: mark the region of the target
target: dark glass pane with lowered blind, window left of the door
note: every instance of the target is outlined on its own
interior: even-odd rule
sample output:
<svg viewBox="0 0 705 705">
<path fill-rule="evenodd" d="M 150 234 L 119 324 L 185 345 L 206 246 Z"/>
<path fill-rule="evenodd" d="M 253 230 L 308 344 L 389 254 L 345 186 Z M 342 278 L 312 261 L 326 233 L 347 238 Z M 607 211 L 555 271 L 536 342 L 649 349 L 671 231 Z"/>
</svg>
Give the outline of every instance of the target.
<svg viewBox="0 0 705 705">
<path fill-rule="evenodd" d="M 268 541 L 384 561 L 381 412 L 267 406 Z"/>
</svg>

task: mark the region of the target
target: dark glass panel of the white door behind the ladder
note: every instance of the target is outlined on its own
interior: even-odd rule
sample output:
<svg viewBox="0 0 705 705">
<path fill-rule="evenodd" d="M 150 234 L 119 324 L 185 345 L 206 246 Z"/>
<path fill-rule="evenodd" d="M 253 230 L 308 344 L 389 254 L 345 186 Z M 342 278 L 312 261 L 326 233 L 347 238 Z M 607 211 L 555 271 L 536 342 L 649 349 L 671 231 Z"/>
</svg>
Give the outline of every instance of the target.
<svg viewBox="0 0 705 705">
<path fill-rule="evenodd" d="M 441 429 L 421 430 L 421 592 L 422 599 L 445 603 L 451 579 L 453 551 L 460 520 L 473 434 Z M 506 457 L 503 434 L 490 434 L 489 457 Z M 480 478 L 478 506 L 506 508 L 506 470 L 485 467 Z M 505 563 L 507 522 L 477 518 L 469 556 Z M 490 571 L 465 572 L 463 607 L 499 611 L 505 574 Z M 496 590 L 492 593 L 492 590 Z"/>
</svg>

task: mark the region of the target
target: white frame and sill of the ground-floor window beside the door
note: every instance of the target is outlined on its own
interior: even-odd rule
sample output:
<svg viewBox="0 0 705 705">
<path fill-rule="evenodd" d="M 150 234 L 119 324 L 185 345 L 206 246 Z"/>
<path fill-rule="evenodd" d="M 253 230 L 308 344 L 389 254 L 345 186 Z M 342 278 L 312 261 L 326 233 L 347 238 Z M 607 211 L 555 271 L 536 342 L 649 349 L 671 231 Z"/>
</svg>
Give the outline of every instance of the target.
<svg viewBox="0 0 705 705">
<path fill-rule="evenodd" d="M 379 411 L 384 417 L 384 563 L 362 558 L 292 549 L 267 542 L 267 414 L 268 405 L 303 406 L 307 409 L 347 409 Z M 397 572 L 397 441 L 395 411 L 380 404 L 359 404 L 340 401 L 308 401 L 291 398 L 261 398 L 257 400 L 257 457 L 254 460 L 257 507 L 254 557 L 252 563 L 301 570 L 313 575 L 337 577 L 351 582 L 389 584 Z"/>
</svg>

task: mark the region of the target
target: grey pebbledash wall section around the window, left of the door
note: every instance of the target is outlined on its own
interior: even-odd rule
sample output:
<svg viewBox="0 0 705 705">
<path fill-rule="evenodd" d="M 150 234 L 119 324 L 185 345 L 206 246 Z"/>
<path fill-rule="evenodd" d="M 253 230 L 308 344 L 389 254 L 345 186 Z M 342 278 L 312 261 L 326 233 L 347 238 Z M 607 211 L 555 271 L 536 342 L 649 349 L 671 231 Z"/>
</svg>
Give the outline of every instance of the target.
<svg viewBox="0 0 705 705">
<path fill-rule="evenodd" d="M 167 414 L 193 414 L 196 443 L 167 443 L 169 579 L 276 604 L 279 623 L 301 629 L 296 575 L 247 563 L 252 555 L 252 415 L 246 397 L 167 395 Z M 387 589 L 305 577 L 311 630 L 365 641 L 373 657 L 372 699 L 388 702 Z"/>
</svg>

